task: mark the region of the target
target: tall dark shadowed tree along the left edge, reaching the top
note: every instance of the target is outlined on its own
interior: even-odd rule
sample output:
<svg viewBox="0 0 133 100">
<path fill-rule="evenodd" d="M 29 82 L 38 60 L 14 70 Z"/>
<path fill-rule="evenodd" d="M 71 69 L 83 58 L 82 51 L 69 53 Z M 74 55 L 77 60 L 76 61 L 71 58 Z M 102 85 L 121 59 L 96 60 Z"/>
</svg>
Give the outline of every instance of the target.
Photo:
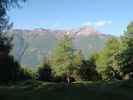
<svg viewBox="0 0 133 100">
<path fill-rule="evenodd" d="M 16 81 L 19 76 L 19 64 L 10 55 L 12 49 L 12 37 L 9 37 L 7 31 L 12 26 L 9 23 L 7 10 L 12 7 L 18 7 L 20 2 L 25 0 L 0 0 L 0 83 Z"/>
</svg>

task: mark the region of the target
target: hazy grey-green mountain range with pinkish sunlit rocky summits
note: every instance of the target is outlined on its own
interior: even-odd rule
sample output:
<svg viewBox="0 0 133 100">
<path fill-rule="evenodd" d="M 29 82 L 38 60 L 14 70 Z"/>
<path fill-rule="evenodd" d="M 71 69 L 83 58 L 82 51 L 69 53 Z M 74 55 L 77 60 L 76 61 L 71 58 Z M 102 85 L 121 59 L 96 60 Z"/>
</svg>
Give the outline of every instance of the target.
<svg viewBox="0 0 133 100">
<path fill-rule="evenodd" d="M 14 35 L 12 53 L 26 66 L 39 64 L 45 55 L 51 53 L 64 34 L 74 37 L 75 48 L 81 49 L 86 57 L 101 50 L 105 46 L 105 41 L 110 37 L 89 26 L 71 30 L 13 29 L 10 33 Z"/>
</svg>

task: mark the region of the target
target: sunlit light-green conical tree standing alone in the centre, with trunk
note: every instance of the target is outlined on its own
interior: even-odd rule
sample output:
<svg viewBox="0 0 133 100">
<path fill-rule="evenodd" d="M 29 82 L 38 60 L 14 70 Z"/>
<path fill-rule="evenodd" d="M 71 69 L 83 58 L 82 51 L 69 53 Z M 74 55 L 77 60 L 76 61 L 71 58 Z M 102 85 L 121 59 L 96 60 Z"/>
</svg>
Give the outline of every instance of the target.
<svg viewBox="0 0 133 100">
<path fill-rule="evenodd" d="M 75 76 L 81 63 L 77 50 L 74 49 L 72 37 L 64 35 L 53 50 L 51 61 L 54 75 L 66 76 L 69 83 L 70 77 Z"/>
</svg>

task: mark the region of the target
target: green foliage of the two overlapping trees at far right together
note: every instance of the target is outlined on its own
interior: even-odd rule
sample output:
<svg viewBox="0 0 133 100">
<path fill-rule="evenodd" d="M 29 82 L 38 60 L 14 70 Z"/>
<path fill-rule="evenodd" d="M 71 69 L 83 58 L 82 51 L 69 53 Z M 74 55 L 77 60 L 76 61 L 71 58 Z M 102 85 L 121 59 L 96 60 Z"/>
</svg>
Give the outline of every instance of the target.
<svg viewBox="0 0 133 100">
<path fill-rule="evenodd" d="M 105 80 L 133 77 L 133 22 L 124 36 L 111 37 L 96 57 L 96 69 Z"/>
</svg>

